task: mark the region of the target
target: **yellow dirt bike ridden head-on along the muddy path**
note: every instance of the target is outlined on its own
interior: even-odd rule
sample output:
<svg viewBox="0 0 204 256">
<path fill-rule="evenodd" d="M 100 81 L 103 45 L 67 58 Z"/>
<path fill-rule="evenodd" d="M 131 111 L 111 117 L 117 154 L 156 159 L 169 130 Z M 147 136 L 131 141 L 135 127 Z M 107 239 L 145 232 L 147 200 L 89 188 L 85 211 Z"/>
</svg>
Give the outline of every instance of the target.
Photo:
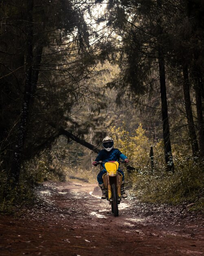
<svg viewBox="0 0 204 256">
<path fill-rule="evenodd" d="M 112 213 L 117 217 L 118 204 L 121 202 L 122 175 L 118 172 L 119 163 L 125 161 L 99 161 L 97 164 L 104 164 L 107 173 L 103 174 L 104 186 L 107 189 L 107 200 L 111 204 Z"/>
</svg>

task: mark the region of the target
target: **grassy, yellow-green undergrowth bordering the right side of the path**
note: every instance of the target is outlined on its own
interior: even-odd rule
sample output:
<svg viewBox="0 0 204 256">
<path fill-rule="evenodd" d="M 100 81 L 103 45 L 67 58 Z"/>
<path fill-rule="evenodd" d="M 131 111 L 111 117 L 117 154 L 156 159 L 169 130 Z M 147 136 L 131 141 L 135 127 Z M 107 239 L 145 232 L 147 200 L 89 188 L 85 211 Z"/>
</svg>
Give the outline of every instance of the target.
<svg viewBox="0 0 204 256">
<path fill-rule="evenodd" d="M 132 175 L 131 193 L 143 202 L 192 204 L 191 210 L 204 210 L 204 173 L 194 159 L 177 163 L 175 173 L 141 170 Z"/>
</svg>

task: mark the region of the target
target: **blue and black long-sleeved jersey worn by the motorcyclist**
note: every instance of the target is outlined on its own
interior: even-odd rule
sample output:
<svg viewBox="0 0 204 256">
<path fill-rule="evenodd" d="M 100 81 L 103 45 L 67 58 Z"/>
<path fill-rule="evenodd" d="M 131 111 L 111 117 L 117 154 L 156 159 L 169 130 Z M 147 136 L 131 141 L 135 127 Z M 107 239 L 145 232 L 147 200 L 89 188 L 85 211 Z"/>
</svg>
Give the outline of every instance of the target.
<svg viewBox="0 0 204 256">
<path fill-rule="evenodd" d="M 120 161 L 120 158 L 125 160 L 127 157 L 126 155 L 123 155 L 119 149 L 112 148 L 112 150 L 110 150 L 109 152 L 105 149 L 102 149 L 99 152 L 95 161 Z M 104 167 L 104 164 L 102 164 L 102 166 Z"/>
</svg>

